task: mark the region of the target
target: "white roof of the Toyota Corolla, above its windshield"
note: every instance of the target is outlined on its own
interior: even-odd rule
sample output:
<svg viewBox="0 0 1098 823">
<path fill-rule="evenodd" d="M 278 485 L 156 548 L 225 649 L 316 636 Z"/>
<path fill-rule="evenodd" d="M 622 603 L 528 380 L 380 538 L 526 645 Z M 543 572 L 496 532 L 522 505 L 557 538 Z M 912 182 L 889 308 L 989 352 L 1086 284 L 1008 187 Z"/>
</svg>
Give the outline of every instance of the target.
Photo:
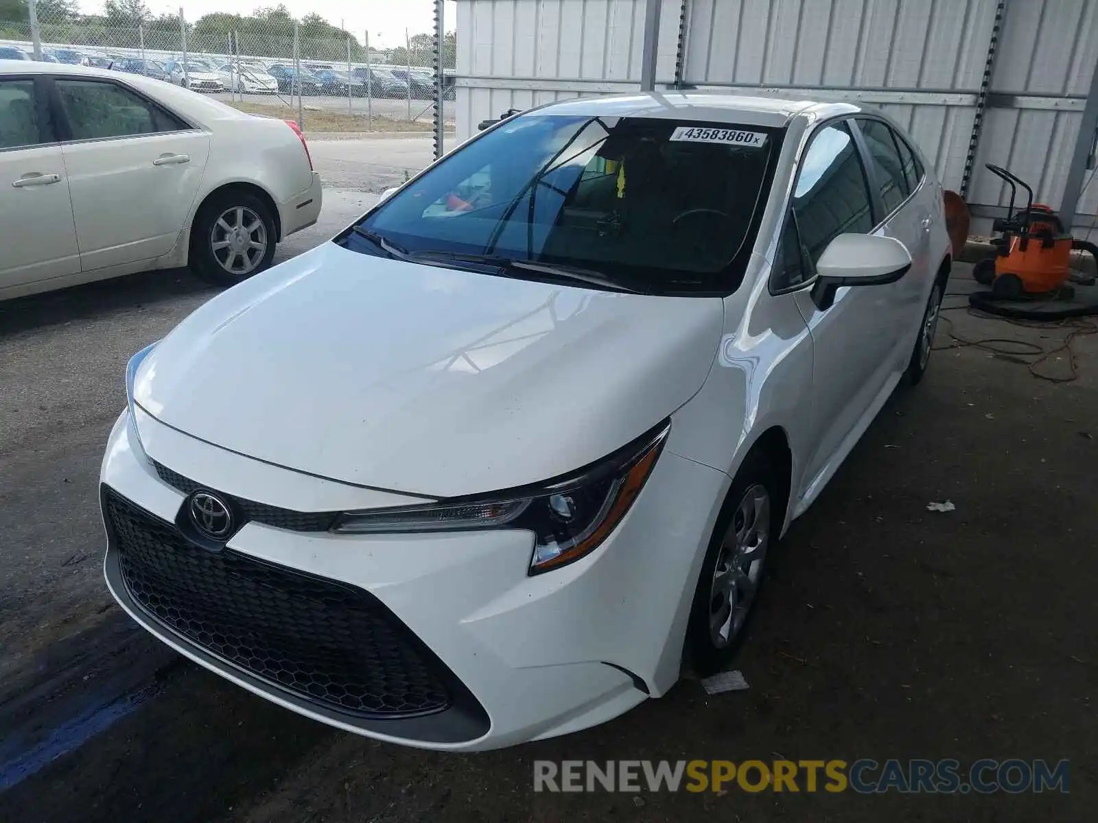
<svg viewBox="0 0 1098 823">
<path fill-rule="evenodd" d="M 658 117 L 661 120 L 696 120 L 781 127 L 795 117 L 818 120 L 861 111 L 849 103 L 782 97 L 747 94 L 714 94 L 701 91 L 653 91 L 602 98 L 576 98 L 538 109 L 553 114 Z"/>
</svg>

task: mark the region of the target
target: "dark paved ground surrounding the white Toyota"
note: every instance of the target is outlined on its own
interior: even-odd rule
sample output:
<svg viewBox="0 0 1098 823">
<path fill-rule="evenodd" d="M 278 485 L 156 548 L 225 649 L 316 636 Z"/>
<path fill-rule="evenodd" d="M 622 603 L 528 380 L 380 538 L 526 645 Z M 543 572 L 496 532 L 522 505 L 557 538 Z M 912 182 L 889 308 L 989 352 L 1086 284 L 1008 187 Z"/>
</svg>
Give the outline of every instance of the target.
<svg viewBox="0 0 1098 823">
<path fill-rule="evenodd" d="M 363 143 L 313 144 L 333 183 L 322 224 L 280 256 L 429 158 L 428 140 Z M 373 167 L 359 179 L 354 153 Z M 581 734 L 442 756 L 336 733 L 225 684 L 133 629 L 100 583 L 96 476 L 123 365 L 214 293 L 170 272 L 0 304 L 0 820 L 1093 819 L 1096 338 L 1077 343 L 1071 383 L 1034 377 L 1032 356 L 966 346 L 897 392 L 775 557 L 737 659 L 749 691 L 706 698 L 684 680 Z M 1051 350 L 1067 334 L 949 316 L 973 341 Z M 1065 376 L 1068 362 L 1034 370 Z M 926 508 L 946 499 L 954 511 Z M 1071 758 L 1071 794 L 531 791 L 536 758 L 984 756 Z"/>
</svg>

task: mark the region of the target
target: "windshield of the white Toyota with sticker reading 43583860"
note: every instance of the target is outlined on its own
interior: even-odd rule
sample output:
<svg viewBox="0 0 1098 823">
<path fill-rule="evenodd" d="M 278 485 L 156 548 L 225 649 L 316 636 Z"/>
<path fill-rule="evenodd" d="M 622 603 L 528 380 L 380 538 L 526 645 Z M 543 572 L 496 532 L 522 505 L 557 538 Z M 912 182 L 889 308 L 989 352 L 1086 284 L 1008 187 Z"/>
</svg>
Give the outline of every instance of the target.
<svg viewBox="0 0 1098 823">
<path fill-rule="evenodd" d="M 366 229 L 413 256 L 584 269 L 647 293 L 728 291 L 751 251 L 782 135 L 528 114 L 450 155 L 356 234 Z M 376 253 L 365 239 L 346 239 Z"/>
</svg>

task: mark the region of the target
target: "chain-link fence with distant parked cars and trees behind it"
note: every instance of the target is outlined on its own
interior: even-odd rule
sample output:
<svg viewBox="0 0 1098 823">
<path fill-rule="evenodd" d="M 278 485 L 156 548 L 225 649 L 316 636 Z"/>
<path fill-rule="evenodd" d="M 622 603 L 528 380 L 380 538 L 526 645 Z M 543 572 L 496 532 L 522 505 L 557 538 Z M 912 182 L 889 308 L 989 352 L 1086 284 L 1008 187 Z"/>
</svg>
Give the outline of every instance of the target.
<svg viewBox="0 0 1098 823">
<path fill-rule="evenodd" d="M 284 5 L 191 18 L 186 7 L 154 16 L 143 0 L 105 0 L 99 14 L 75 0 L 0 0 L 0 59 L 146 75 L 313 133 L 452 128 L 455 33 L 408 32 L 388 49 L 368 38 L 316 13 L 295 19 Z"/>
</svg>

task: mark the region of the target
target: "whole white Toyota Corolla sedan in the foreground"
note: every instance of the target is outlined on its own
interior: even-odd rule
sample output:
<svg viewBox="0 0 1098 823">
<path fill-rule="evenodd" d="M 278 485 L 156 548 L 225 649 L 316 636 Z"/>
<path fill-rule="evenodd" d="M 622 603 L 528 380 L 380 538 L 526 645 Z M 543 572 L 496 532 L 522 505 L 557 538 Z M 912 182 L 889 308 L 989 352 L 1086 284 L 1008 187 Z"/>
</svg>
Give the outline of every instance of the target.
<svg viewBox="0 0 1098 823">
<path fill-rule="evenodd" d="M 133 358 L 108 584 L 341 729 L 600 723 L 727 662 L 768 551 L 922 376 L 950 262 L 941 185 L 876 113 L 511 117 Z"/>
</svg>

